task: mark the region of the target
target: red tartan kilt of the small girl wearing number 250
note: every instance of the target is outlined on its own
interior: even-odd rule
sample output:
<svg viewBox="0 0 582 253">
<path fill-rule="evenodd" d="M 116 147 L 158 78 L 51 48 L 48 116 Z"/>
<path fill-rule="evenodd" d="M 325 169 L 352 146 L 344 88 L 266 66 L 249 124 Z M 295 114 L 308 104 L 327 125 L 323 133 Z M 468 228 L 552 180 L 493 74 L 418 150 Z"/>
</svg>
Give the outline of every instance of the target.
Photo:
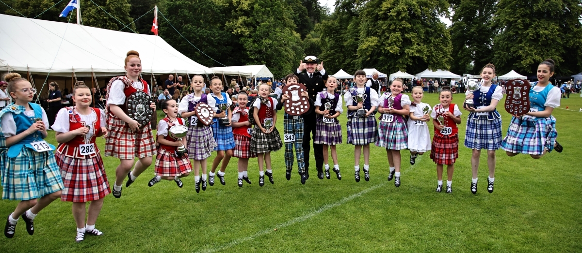
<svg viewBox="0 0 582 253">
<path fill-rule="evenodd" d="M 459 135 L 432 138 L 431 159 L 436 164 L 452 165 L 459 158 Z"/>
</svg>

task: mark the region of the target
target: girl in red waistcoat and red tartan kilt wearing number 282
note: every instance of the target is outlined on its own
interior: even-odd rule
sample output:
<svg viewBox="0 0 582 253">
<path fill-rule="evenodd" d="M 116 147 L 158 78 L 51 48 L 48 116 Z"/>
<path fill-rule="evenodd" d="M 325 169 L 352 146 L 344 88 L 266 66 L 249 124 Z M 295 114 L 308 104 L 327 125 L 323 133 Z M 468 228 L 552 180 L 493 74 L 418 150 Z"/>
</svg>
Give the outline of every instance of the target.
<svg viewBox="0 0 582 253">
<path fill-rule="evenodd" d="M 95 229 L 97 216 L 103 207 L 103 199 L 109 190 L 105 167 L 95 138 L 107 134 L 105 111 L 89 107 L 92 96 L 86 85 L 73 88 L 74 107 L 65 107 L 56 114 L 56 164 L 61 168 L 65 188 L 61 201 L 73 202 L 73 218 L 77 224 L 75 241 L 84 240 L 86 234 L 101 236 Z M 88 201 L 89 212 L 85 223 L 85 206 Z"/>
</svg>

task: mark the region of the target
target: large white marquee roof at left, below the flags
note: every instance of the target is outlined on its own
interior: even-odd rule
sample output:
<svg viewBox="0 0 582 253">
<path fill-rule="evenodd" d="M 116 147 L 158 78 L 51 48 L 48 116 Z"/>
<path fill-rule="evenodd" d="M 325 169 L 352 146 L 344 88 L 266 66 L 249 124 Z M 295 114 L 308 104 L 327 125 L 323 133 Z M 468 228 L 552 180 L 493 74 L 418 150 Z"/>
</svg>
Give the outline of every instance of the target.
<svg viewBox="0 0 582 253">
<path fill-rule="evenodd" d="M 143 73 L 221 73 L 202 66 L 155 35 L 134 34 L 0 15 L 0 71 L 108 76 L 125 73 L 127 51 L 140 53 Z M 232 73 L 224 73 L 232 74 Z"/>
</svg>

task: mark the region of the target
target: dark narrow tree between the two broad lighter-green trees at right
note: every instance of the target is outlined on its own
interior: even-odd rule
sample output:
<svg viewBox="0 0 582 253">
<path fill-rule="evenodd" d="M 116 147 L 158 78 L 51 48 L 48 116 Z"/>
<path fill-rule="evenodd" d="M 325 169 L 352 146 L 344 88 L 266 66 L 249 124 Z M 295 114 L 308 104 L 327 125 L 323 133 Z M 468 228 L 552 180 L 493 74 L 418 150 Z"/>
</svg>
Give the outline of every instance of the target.
<svg viewBox="0 0 582 253">
<path fill-rule="evenodd" d="M 460 0 L 452 3 L 455 12 L 450 26 L 453 52 L 450 71 L 477 74 L 493 60 L 492 17 L 496 0 Z M 467 66 L 473 67 L 467 70 Z M 469 71 L 469 72 L 467 72 Z"/>
</svg>

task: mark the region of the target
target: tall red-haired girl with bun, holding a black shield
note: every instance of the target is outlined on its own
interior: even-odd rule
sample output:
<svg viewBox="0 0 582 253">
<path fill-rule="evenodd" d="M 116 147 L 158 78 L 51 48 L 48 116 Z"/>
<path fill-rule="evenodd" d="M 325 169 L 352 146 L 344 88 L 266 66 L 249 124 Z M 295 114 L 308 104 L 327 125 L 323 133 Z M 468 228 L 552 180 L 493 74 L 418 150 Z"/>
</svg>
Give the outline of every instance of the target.
<svg viewBox="0 0 582 253">
<path fill-rule="evenodd" d="M 119 158 L 120 164 L 115 169 L 113 197 L 121 197 L 121 185 L 127 175 L 125 187 L 129 187 L 137 176 L 150 167 L 152 157 L 156 154 L 151 124 L 142 126 L 127 114 L 126 98 L 137 91 L 150 94 L 147 82 L 140 79 L 141 59 L 136 51 L 127 52 L 125 57 L 127 75 L 114 77 L 107 85 L 107 132 L 105 137 L 105 156 Z M 150 104 L 155 113 L 155 103 Z M 134 159 L 139 160 L 135 162 Z M 131 170 L 133 168 L 133 170 Z"/>
</svg>

